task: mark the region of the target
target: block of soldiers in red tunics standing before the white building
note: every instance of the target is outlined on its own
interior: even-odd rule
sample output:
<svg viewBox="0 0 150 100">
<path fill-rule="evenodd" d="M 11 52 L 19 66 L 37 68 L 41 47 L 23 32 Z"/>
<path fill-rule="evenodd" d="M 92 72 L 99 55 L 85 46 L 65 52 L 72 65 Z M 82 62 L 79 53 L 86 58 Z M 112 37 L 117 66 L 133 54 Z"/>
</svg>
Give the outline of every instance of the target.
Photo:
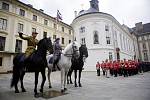
<svg viewBox="0 0 150 100">
<path fill-rule="evenodd" d="M 140 70 L 139 62 L 137 60 L 115 60 L 108 61 L 107 59 L 102 63 L 97 62 L 97 76 L 100 76 L 100 68 L 102 69 L 103 75 L 109 78 L 109 75 L 114 77 L 124 76 L 128 77 L 131 75 L 138 74 Z"/>
</svg>

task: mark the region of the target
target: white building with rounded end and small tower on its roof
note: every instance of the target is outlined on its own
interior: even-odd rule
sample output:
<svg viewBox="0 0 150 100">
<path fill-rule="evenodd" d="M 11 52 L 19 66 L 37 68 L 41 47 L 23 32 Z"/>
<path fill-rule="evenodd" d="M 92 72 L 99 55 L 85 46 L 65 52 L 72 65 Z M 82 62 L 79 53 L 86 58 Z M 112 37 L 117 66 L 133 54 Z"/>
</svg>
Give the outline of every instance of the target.
<svg viewBox="0 0 150 100">
<path fill-rule="evenodd" d="M 88 10 L 75 12 L 71 26 L 76 40 L 88 48 L 85 70 L 95 71 L 97 61 L 138 58 L 136 36 L 112 15 L 99 12 L 98 0 L 91 0 Z"/>
</svg>

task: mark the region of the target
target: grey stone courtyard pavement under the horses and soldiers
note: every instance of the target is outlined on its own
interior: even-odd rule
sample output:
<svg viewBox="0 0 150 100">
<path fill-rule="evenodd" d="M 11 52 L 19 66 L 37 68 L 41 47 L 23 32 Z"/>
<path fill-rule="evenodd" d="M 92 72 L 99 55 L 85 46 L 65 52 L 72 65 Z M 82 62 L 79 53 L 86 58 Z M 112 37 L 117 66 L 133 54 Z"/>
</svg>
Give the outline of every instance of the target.
<svg viewBox="0 0 150 100">
<path fill-rule="evenodd" d="M 39 75 L 39 87 L 41 75 Z M 0 100 L 45 100 L 45 98 L 34 98 L 34 73 L 26 73 L 24 86 L 25 93 L 14 93 L 10 89 L 11 74 L 0 74 Z M 72 78 L 73 79 L 73 78 Z M 74 79 L 73 79 L 74 80 Z M 60 91 L 60 72 L 51 75 L 52 88 L 48 88 L 48 81 L 44 91 Z M 150 100 L 150 72 L 130 77 L 96 76 L 96 72 L 82 73 L 82 86 L 74 87 L 67 85 L 68 94 L 49 98 L 50 100 Z"/>
</svg>

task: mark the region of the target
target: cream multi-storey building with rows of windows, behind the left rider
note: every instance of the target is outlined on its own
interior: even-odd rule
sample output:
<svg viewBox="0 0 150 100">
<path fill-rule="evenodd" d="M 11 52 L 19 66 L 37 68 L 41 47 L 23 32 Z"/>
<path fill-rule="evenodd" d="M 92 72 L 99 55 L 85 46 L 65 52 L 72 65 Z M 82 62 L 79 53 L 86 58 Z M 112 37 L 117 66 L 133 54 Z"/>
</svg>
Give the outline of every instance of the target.
<svg viewBox="0 0 150 100">
<path fill-rule="evenodd" d="M 0 0 L 0 72 L 11 70 L 14 55 L 26 49 L 27 43 L 19 38 L 18 32 L 31 35 L 33 31 L 39 33 L 39 40 L 44 36 L 51 37 L 52 41 L 59 37 L 63 47 L 73 39 L 70 25 L 56 22 L 42 9 L 18 0 Z"/>
</svg>

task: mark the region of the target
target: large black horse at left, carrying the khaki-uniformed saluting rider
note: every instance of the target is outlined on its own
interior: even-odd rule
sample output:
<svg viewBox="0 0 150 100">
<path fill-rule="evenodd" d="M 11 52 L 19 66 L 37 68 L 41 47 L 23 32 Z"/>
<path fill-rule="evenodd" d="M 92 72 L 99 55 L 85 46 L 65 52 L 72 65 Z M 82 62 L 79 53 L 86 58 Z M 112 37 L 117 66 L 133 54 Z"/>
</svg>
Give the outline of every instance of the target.
<svg viewBox="0 0 150 100">
<path fill-rule="evenodd" d="M 13 74 L 11 80 L 11 88 L 15 87 L 15 93 L 19 93 L 18 81 L 20 79 L 22 92 L 26 92 L 23 85 L 23 78 L 25 72 L 28 70 L 30 72 L 35 72 L 35 87 L 34 96 L 38 96 L 37 84 L 39 72 L 42 74 L 42 83 L 40 92 L 43 93 L 43 86 L 46 81 L 45 69 L 47 67 L 46 55 L 47 50 L 52 50 L 52 42 L 50 38 L 43 38 L 37 44 L 37 50 L 29 58 L 25 58 L 24 53 L 17 54 L 13 59 Z M 24 59 L 23 59 L 24 58 Z"/>
</svg>

